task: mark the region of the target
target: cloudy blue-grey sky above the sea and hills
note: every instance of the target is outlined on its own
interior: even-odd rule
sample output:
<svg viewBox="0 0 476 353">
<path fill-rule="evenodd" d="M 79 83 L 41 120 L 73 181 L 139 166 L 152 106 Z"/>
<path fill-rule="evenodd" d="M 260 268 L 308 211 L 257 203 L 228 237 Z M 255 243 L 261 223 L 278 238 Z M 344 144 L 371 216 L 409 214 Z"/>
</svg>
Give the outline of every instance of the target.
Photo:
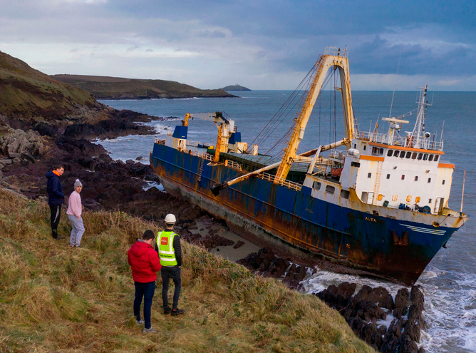
<svg viewBox="0 0 476 353">
<path fill-rule="evenodd" d="M 327 46 L 353 90 L 476 91 L 474 0 L 0 0 L 0 51 L 50 75 L 294 89 Z"/>
</svg>

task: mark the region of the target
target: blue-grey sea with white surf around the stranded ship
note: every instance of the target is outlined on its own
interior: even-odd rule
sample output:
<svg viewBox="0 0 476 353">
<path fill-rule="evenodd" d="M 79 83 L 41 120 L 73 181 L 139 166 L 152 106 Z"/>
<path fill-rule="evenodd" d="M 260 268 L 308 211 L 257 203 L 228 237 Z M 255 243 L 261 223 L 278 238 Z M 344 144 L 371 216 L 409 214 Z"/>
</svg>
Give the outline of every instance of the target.
<svg viewBox="0 0 476 353">
<path fill-rule="evenodd" d="M 113 140 L 100 140 L 112 158 L 148 160 L 154 138 L 165 138 L 180 125 L 185 113 L 224 112 L 234 120 L 242 141 L 259 143 L 259 152 L 280 155 L 283 136 L 289 132 L 302 103 L 302 91 L 234 91 L 237 98 L 189 98 L 101 101 L 117 109 L 130 109 L 151 116 L 174 117 L 167 121 L 152 121 L 145 125 L 155 128 L 157 135 L 130 135 Z M 344 137 L 340 92 L 322 91 L 299 145 L 299 152 L 332 143 Z M 388 123 L 381 118 L 404 116 L 409 121 L 400 131 L 413 131 L 419 91 L 353 91 L 353 111 L 359 131 L 384 133 Z M 443 141 L 442 162 L 455 164 L 449 205 L 476 216 L 476 92 L 428 92 L 425 131 L 430 140 Z M 283 109 L 285 108 L 285 109 Z M 413 113 L 412 113 L 413 112 Z M 378 127 L 376 127 L 378 124 Z M 211 121 L 189 122 L 189 140 L 216 143 L 217 127 Z M 276 144 L 276 142 L 281 143 Z M 274 149 L 273 149 L 274 148 Z M 144 162 L 142 160 L 142 162 Z M 146 162 L 147 163 L 147 162 Z M 465 178 L 463 175 L 465 174 Z M 462 194 L 463 182 L 464 198 Z M 476 352 L 476 222 L 470 218 L 433 258 L 417 284 L 425 295 L 425 319 L 420 347 L 426 352 Z M 306 292 L 324 290 L 328 285 L 347 281 L 371 287 L 386 287 L 395 295 L 401 288 L 389 282 L 338 275 L 319 271 L 306 279 Z M 389 318 L 391 319 L 391 317 Z M 388 324 L 389 322 L 386 322 Z"/>
</svg>

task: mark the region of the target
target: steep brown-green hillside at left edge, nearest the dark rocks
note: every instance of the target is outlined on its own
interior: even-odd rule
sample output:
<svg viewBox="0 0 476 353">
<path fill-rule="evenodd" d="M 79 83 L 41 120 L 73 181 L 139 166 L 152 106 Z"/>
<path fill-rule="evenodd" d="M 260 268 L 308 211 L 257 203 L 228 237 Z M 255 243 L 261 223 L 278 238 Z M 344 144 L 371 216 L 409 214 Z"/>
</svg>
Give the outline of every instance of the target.
<svg viewBox="0 0 476 353">
<path fill-rule="evenodd" d="M 0 115 L 60 118 L 75 106 L 97 106 L 92 94 L 56 81 L 0 51 Z"/>
</svg>

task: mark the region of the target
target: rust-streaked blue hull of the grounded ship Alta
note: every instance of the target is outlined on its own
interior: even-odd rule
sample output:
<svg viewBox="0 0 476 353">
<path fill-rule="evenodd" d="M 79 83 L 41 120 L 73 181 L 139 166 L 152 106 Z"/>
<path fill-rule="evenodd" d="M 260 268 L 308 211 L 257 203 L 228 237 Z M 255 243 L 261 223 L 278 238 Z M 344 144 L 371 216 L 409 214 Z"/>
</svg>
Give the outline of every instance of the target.
<svg viewBox="0 0 476 353">
<path fill-rule="evenodd" d="M 285 242 L 341 265 L 413 285 L 457 227 L 372 215 L 313 198 L 262 178 L 210 191 L 242 175 L 224 165 L 155 143 L 150 165 L 169 193 L 188 198 L 213 215 L 264 240 Z M 430 215 L 428 215 L 430 217 Z"/>
</svg>

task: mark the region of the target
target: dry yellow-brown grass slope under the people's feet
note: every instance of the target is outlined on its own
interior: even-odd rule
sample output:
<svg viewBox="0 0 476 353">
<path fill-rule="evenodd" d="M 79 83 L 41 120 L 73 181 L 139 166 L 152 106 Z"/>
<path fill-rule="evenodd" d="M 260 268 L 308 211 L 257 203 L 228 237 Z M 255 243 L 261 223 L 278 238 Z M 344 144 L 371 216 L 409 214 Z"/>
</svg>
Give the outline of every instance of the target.
<svg viewBox="0 0 476 353">
<path fill-rule="evenodd" d="M 159 226 L 125 213 L 83 218 L 84 247 L 69 249 L 52 240 L 46 203 L 0 189 L 0 352 L 374 352 L 317 297 L 187 243 L 186 313 L 162 314 L 159 276 L 158 332 L 143 334 L 126 252 Z M 63 216 L 58 230 L 69 229 Z"/>
</svg>

